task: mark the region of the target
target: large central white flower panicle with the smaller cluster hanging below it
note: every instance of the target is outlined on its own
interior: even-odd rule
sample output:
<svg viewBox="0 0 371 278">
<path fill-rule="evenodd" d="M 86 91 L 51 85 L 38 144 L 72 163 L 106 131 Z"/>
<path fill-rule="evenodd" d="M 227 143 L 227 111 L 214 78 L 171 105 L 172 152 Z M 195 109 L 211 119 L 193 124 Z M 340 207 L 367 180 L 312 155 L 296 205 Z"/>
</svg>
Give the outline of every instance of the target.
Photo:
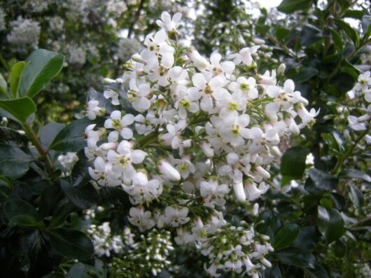
<svg viewBox="0 0 371 278">
<path fill-rule="evenodd" d="M 246 223 L 228 225 L 220 210 L 267 192 L 281 139 L 314 123 L 318 111 L 305 108 L 293 81 L 278 83 L 275 70 L 255 73 L 259 46 L 231 60 L 219 53 L 207 59 L 177 43 L 180 14 L 161 19 L 160 31 L 146 36 L 146 48 L 115 81 L 123 92 L 104 92 L 125 109 L 105 114 L 97 99 L 88 102 L 90 119 L 108 115 L 104 127 L 85 131 L 90 175 L 99 186 L 123 187 L 135 206 L 129 221 L 139 230 L 176 228 L 176 242 L 209 256 L 209 274 L 257 277 L 270 266 L 264 256 L 272 246 Z"/>
</svg>

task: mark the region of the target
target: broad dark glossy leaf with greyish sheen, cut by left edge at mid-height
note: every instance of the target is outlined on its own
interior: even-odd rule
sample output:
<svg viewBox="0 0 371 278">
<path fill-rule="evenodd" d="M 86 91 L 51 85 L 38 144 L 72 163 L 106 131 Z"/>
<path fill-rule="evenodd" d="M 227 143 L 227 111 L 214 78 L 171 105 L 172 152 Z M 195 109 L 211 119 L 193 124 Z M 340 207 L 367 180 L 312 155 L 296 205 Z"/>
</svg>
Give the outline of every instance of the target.
<svg viewBox="0 0 371 278">
<path fill-rule="evenodd" d="M 8 178 L 18 178 L 26 174 L 34 160 L 15 146 L 0 144 L 0 153 L 0 175 Z"/>
</svg>

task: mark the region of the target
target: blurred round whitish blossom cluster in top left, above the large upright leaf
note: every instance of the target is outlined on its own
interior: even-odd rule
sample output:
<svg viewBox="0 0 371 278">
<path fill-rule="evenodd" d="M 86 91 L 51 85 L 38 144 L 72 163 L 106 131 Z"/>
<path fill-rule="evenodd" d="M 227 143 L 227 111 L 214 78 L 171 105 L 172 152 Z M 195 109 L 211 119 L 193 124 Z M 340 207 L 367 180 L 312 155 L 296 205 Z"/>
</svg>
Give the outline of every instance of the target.
<svg viewBox="0 0 371 278">
<path fill-rule="evenodd" d="M 10 44 L 21 49 L 27 46 L 37 48 L 41 32 L 38 22 L 18 16 L 17 20 L 10 22 L 10 29 L 10 34 L 6 36 Z"/>
</svg>

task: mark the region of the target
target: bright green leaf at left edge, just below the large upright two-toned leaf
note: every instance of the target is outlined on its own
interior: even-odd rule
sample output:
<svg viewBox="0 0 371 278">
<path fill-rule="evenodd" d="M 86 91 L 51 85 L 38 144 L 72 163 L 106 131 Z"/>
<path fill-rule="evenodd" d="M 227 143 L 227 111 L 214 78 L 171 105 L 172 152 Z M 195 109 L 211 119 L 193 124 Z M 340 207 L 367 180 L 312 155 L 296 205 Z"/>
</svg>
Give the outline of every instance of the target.
<svg viewBox="0 0 371 278">
<path fill-rule="evenodd" d="M 27 118 L 32 113 L 36 112 L 36 105 L 29 97 L 21 97 L 20 99 L 0 100 L 0 109 L 10 113 L 21 122 L 27 121 Z"/>
</svg>

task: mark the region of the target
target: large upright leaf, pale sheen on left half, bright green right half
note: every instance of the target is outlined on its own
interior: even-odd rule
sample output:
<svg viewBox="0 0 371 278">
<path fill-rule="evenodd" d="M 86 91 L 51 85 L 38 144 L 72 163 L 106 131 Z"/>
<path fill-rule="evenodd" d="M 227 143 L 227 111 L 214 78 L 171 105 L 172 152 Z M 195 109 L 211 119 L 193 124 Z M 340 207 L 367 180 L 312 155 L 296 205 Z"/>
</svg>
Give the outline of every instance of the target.
<svg viewBox="0 0 371 278">
<path fill-rule="evenodd" d="M 63 67 L 64 55 L 45 49 L 35 50 L 26 59 L 20 80 L 20 96 L 34 97 Z"/>
</svg>

